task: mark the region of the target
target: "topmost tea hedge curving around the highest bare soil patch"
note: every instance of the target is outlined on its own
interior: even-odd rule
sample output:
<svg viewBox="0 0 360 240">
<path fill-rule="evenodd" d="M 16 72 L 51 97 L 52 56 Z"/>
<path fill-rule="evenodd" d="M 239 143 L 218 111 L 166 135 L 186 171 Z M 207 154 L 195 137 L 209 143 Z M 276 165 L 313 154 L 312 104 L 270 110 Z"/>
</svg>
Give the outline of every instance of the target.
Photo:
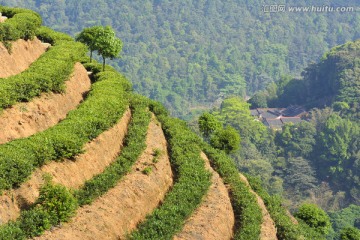
<svg viewBox="0 0 360 240">
<path fill-rule="evenodd" d="M 0 24 L 0 41 L 5 45 L 19 38 L 32 39 L 35 35 L 54 45 L 21 74 L 0 79 L 0 110 L 29 101 L 42 92 L 63 92 L 64 82 L 69 79 L 75 62 L 85 56 L 87 48 L 64 33 L 41 27 L 40 15 L 31 10 L 0 6 L 0 12 L 9 17 Z"/>
</svg>

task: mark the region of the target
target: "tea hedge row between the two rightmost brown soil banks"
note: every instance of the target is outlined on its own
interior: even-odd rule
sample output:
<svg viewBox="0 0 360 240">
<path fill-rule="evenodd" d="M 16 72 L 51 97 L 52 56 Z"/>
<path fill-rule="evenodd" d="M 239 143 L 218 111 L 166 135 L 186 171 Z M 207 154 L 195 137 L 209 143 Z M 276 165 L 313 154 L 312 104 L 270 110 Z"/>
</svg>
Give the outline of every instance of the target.
<svg viewBox="0 0 360 240">
<path fill-rule="evenodd" d="M 240 180 L 234 162 L 224 152 L 203 144 L 203 151 L 219 173 L 225 184 L 230 186 L 231 204 L 235 213 L 234 239 L 258 239 L 262 223 L 262 213 L 249 187 Z"/>
</svg>

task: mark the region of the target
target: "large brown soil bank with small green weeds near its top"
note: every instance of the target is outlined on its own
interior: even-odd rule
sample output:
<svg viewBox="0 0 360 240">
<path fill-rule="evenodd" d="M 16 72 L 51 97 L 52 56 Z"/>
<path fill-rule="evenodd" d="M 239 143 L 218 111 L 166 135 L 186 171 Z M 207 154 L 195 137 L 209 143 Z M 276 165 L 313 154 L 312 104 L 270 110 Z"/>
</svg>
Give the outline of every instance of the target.
<svg viewBox="0 0 360 240">
<path fill-rule="evenodd" d="M 159 124 L 153 120 L 148 128 L 147 148 L 131 172 L 114 188 L 91 205 L 80 208 L 66 223 L 36 239 L 126 239 L 146 214 L 153 211 L 172 185 L 172 172 L 166 140 Z M 157 163 L 153 150 L 161 149 Z M 151 167 L 149 175 L 142 173 Z"/>
</svg>

